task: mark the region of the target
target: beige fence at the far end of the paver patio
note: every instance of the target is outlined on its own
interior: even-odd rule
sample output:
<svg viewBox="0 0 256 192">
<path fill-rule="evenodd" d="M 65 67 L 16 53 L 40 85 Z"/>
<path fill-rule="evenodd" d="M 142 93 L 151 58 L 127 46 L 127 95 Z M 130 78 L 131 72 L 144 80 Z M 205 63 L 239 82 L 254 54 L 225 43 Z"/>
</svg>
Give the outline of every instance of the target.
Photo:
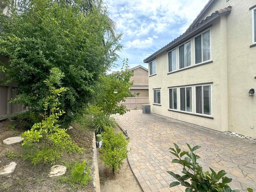
<svg viewBox="0 0 256 192">
<path fill-rule="evenodd" d="M 125 105 L 128 109 L 142 108 L 143 104 L 148 104 L 148 97 L 127 97 L 125 102 L 118 103 L 118 106 Z"/>
</svg>

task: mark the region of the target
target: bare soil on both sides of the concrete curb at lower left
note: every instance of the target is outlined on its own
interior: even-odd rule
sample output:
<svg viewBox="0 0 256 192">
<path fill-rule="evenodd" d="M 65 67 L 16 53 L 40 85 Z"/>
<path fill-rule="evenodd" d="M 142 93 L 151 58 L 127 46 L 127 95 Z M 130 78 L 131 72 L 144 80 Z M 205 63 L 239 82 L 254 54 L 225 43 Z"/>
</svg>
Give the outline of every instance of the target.
<svg viewBox="0 0 256 192">
<path fill-rule="evenodd" d="M 13 129 L 13 125 L 16 124 L 17 122 L 15 121 L 0 121 L 0 167 L 12 161 L 17 163 L 16 169 L 12 174 L 0 175 L 0 192 L 96 192 L 92 181 L 85 188 L 71 188 L 68 184 L 60 183 L 58 178 L 50 178 L 48 176 L 50 165 L 37 164 L 34 166 L 29 161 L 24 161 L 22 157 L 7 157 L 7 154 L 12 152 L 15 155 L 22 154 L 21 144 L 7 146 L 2 142 L 8 137 L 19 136 L 25 131 L 22 127 Z M 68 134 L 78 146 L 84 148 L 84 154 L 82 156 L 64 154 L 62 162 L 57 162 L 56 164 L 64 165 L 64 162 L 72 164 L 86 160 L 92 173 L 94 173 L 95 168 L 92 158 L 92 137 L 94 132 L 83 130 L 78 124 L 72 124 L 72 126 L 73 129 L 68 130 Z M 100 152 L 98 148 L 97 156 L 101 192 L 143 192 L 130 169 L 127 159 L 124 160 L 124 166 L 113 175 L 112 170 L 104 166 L 99 159 Z"/>
</svg>

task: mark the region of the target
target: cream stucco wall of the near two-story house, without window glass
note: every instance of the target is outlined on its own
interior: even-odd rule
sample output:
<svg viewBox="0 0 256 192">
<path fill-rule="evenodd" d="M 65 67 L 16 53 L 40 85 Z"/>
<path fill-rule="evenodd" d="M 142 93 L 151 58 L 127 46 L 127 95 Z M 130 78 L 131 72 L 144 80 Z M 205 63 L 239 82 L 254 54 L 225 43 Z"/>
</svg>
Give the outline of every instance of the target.
<svg viewBox="0 0 256 192">
<path fill-rule="evenodd" d="M 238 134 L 256 137 L 256 96 L 249 97 L 251 88 L 256 90 L 255 54 L 256 46 L 252 45 L 252 9 L 255 0 L 240 1 L 215 0 L 199 18 L 202 23 L 212 21 L 202 27 L 190 38 L 185 38 L 170 50 L 160 51 L 146 59 L 150 65 L 156 63 L 156 74 L 149 77 L 149 99 L 151 112 L 197 124 L 219 131 L 231 131 Z M 214 18 L 216 10 L 232 6 L 231 12 L 225 12 Z M 228 13 L 228 14 L 227 14 Z M 214 18 L 214 19 L 213 19 Z M 196 22 L 194 25 L 197 25 Z M 200 27 L 200 24 L 198 25 Z M 193 26 L 192 26 L 193 28 Z M 194 26 L 196 28 L 196 26 Z M 205 29 L 205 30 L 204 30 Z M 196 64 L 195 37 L 210 30 L 210 59 Z M 188 30 L 188 34 L 192 29 Z M 184 34 L 184 36 L 186 35 Z M 177 40 L 178 41 L 178 40 Z M 191 66 L 168 73 L 168 51 L 176 48 L 176 67 L 179 69 L 179 46 L 191 42 Z M 175 43 L 175 42 L 174 42 Z M 170 58 L 169 58 L 170 59 Z M 145 60 L 144 60 L 145 62 Z M 153 64 L 154 65 L 154 64 Z M 210 114 L 196 112 L 196 89 L 198 86 L 209 88 L 211 92 Z M 181 110 L 181 89 L 188 87 L 191 93 L 192 109 Z M 177 110 L 170 108 L 170 93 L 177 88 Z M 160 98 L 156 94 L 160 92 Z M 155 93 L 155 95 L 154 95 Z M 205 91 L 207 93 L 207 91 Z M 172 95 L 173 96 L 173 95 Z M 157 98 L 154 101 L 154 98 Z M 158 102 L 160 100 L 160 103 Z M 153 104 L 155 102 L 155 104 Z M 198 105 L 197 105 L 198 106 Z M 190 109 L 188 109 L 190 110 Z M 251 128 L 255 126 L 255 128 Z"/>
</svg>

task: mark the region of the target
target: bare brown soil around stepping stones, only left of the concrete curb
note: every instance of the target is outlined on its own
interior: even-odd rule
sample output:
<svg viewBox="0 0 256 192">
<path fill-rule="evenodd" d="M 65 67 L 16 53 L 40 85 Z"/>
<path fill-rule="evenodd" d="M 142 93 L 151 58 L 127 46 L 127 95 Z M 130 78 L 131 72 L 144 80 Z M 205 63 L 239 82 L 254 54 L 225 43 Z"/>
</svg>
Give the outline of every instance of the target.
<svg viewBox="0 0 256 192">
<path fill-rule="evenodd" d="M 22 157 L 7 157 L 7 153 L 13 152 L 15 155 L 21 154 L 21 144 L 14 144 L 7 146 L 2 140 L 19 136 L 23 130 L 22 128 L 12 129 L 10 125 L 15 125 L 17 122 L 10 122 L 8 120 L 0 122 L 0 167 L 8 165 L 14 161 L 17 163 L 16 169 L 12 174 L 0 176 L 0 192 L 74 192 L 86 191 L 95 192 L 92 181 L 85 188 L 77 187 L 71 188 L 68 184 L 63 184 L 58 181 L 57 177 L 49 177 L 50 165 L 31 164 L 29 161 L 24 161 Z M 68 155 L 64 154 L 62 162 L 56 164 L 64 165 L 65 163 L 72 164 L 74 162 L 82 162 L 86 160 L 88 166 L 94 172 L 93 165 L 93 151 L 92 151 L 92 136 L 94 132 L 91 130 L 83 130 L 77 124 L 72 124 L 73 129 L 68 130 L 71 138 L 78 146 L 84 148 L 83 155 Z M 67 168 L 67 172 L 69 169 Z"/>
</svg>

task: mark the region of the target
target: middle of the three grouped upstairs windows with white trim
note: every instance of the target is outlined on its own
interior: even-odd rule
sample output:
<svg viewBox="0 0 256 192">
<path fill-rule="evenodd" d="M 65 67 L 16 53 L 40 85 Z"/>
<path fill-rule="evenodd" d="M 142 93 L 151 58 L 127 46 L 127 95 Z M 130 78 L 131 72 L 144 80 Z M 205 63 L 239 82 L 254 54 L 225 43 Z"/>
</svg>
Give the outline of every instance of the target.
<svg viewBox="0 0 256 192">
<path fill-rule="evenodd" d="M 180 69 L 191 66 L 191 41 L 179 46 Z"/>
</svg>

